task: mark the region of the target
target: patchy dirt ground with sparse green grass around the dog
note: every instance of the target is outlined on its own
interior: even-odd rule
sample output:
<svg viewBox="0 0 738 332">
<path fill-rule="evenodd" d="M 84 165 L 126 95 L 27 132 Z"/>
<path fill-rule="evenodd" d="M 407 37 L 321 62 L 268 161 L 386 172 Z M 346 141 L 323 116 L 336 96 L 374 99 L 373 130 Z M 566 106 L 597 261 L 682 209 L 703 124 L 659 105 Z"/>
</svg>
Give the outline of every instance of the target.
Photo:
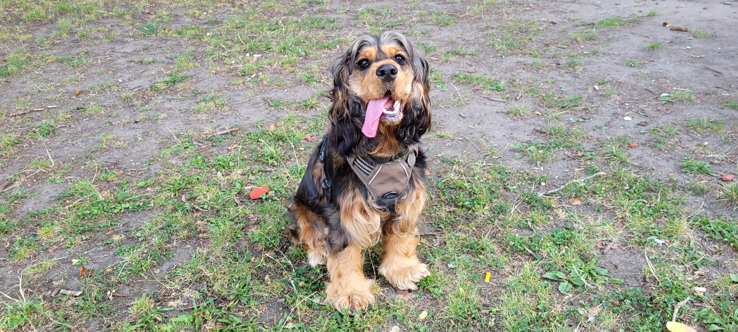
<svg viewBox="0 0 738 332">
<path fill-rule="evenodd" d="M 0 330 L 738 329 L 736 0 L 0 4 Z M 432 276 L 370 249 L 346 317 L 283 206 L 384 30 L 431 67 Z"/>
</svg>

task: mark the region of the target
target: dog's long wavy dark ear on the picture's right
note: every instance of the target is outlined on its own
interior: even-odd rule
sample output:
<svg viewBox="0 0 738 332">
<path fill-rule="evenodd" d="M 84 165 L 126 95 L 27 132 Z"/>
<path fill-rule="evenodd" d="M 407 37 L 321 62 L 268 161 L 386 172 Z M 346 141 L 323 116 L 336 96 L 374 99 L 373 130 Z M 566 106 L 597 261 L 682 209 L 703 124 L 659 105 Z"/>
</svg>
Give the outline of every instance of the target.
<svg viewBox="0 0 738 332">
<path fill-rule="evenodd" d="M 400 35 L 398 32 L 395 33 Z M 420 137 L 430 128 L 428 61 L 425 60 L 421 49 L 410 44 L 403 35 L 400 35 L 400 37 L 398 42 L 405 48 L 412 60 L 415 78 L 413 79 L 413 91 L 410 93 L 410 100 L 404 106 L 404 117 L 402 117 L 402 122 L 400 122 L 397 129 L 397 139 L 405 144 L 417 144 L 420 142 Z"/>
</svg>

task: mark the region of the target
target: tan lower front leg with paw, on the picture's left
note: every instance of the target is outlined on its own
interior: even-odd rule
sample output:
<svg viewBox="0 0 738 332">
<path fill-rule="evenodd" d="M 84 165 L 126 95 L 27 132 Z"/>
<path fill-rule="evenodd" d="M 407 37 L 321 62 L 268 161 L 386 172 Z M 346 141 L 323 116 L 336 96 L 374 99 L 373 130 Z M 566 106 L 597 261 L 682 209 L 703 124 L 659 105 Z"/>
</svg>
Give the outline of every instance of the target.
<svg viewBox="0 0 738 332">
<path fill-rule="evenodd" d="M 373 288 L 364 276 L 362 248 L 348 246 L 328 257 L 328 277 L 325 283 L 325 301 L 334 308 L 348 312 L 366 310 L 374 304 Z"/>
</svg>

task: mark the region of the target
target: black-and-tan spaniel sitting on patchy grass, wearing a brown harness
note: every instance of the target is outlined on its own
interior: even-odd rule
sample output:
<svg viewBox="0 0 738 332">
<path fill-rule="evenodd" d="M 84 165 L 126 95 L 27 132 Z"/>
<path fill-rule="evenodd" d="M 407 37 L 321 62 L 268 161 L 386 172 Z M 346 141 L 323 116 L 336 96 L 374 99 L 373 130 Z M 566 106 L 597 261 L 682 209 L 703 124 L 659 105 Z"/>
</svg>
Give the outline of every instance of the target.
<svg viewBox="0 0 738 332">
<path fill-rule="evenodd" d="M 430 274 L 415 255 L 427 201 L 418 143 L 431 120 L 428 63 L 389 31 L 356 38 L 332 75 L 330 128 L 289 201 L 287 234 L 311 266 L 328 267 L 326 302 L 354 313 L 375 302 L 362 249 L 380 239 L 379 274 L 392 286 L 416 290 Z"/>
</svg>

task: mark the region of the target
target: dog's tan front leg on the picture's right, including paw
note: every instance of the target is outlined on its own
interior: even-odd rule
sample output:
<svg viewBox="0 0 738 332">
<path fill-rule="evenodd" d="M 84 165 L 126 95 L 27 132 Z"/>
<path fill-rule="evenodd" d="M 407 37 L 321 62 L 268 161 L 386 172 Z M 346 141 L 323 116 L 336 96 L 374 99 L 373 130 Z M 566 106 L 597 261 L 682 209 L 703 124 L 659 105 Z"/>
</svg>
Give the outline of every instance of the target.
<svg viewBox="0 0 738 332">
<path fill-rule="evenodd" d="M 418 219 L 425 207 L 425 185 L 418 183 L 406 199 L 397 203 L 396 216 L 382 230 L 382 264 L 379 274 L 398 289 L 418 289 L 418 281 L 430 275 L 415 255 Z"/>
</svg>

